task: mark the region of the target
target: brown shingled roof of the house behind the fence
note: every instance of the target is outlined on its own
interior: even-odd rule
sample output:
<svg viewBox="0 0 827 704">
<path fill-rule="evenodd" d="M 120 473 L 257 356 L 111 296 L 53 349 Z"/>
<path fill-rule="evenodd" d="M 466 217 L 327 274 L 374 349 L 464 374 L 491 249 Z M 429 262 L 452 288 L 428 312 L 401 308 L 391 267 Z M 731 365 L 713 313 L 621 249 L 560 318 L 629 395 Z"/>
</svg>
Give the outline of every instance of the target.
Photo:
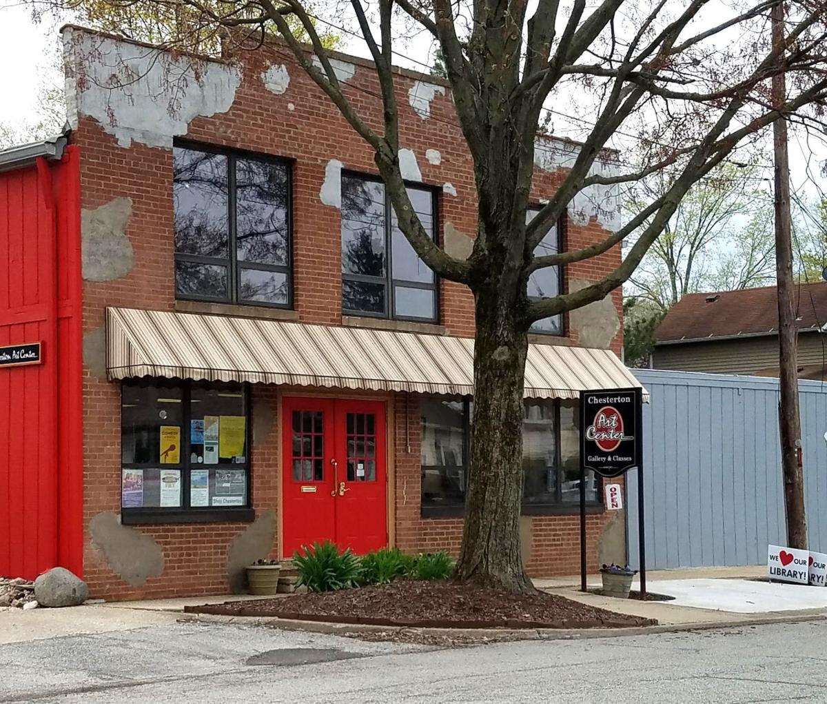
<svg viewBox="0 0 827 704">
<path fill-rule="evenodd" d="M 800 331 L 827 323 L 827 283 L 796 286 Z M 778 332 L 776 287 L 689 294 L 672 306 L 655 331 L 656 344 L 715 338 L 774 335 Z"/>
</svg>

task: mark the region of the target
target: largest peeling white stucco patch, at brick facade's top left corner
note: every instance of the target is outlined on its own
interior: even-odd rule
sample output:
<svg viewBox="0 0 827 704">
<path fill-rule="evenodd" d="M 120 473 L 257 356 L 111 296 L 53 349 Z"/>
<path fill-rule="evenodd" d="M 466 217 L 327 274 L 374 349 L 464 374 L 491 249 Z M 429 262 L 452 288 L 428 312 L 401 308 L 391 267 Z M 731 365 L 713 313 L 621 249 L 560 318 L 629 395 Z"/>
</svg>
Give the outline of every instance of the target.
<svg viewBox="0 0 827 704">
<path fill-rule="evenodd" d="M 176 57 L 71 28 L 63 41 L 70 124 L 79 115 L 93 117 L 121 146 L 139 141 L 171 147 L 195 117 L 226 113 L 241 85 L 240 71 L 218 61 Z"/>
</svg>

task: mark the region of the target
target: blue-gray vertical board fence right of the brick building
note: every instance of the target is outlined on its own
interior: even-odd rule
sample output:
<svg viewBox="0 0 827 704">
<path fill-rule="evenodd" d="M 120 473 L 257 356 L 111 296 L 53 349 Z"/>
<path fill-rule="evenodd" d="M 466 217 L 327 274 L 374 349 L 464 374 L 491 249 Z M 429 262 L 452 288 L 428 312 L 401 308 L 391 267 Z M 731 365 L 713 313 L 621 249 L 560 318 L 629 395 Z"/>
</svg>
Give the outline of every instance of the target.
<svg viewBox="0 0 827 704">
<path fill-rule="evenodd" d="M 778 381 L 634 370 L 643 406 L 648 569 L 766 563 L 786 544 Z M 810 548 L 827 552 L 827 383 L 801 381 Z M 638 567 L 638 472 L 626 475 L 629 562 Z"/>
</svg>

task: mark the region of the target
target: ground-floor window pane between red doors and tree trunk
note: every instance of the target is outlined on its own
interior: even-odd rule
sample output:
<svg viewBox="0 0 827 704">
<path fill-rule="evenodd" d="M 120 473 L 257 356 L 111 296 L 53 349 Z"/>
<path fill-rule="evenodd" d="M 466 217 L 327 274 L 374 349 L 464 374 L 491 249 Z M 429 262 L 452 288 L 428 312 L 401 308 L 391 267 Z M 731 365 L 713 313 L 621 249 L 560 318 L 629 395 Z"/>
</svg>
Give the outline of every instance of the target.
<svg viewBox="0 0 827 704">
<path fill-rule="evenodd" d="M 424 398 L 421 413 L 422 503 L 462 505 L 466 478 L 464 404 L 459 399 Z"/>
</svg>

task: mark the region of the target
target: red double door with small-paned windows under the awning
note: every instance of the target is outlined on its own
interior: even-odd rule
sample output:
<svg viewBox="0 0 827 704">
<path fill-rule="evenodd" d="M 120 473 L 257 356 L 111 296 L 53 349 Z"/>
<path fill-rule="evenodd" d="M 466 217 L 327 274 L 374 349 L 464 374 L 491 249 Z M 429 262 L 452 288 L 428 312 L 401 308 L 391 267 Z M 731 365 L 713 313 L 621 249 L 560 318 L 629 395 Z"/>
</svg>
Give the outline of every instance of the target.
<svg viewBox="0 0 827 704">
<path fill-rule="evenodd" d="M 332 540 L 363 554 L 387 544 L 385 404 L 284 399 L 284 557 Z"/>
</svg>

